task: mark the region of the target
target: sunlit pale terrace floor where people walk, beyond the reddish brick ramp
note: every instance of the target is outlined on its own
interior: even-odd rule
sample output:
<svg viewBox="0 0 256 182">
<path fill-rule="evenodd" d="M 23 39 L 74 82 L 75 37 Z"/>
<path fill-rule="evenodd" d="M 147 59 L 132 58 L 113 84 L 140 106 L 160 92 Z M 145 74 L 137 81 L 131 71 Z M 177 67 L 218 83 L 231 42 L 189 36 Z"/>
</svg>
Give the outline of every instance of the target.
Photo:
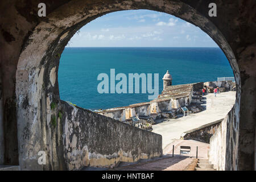
<svg viewBox="0 0 256 182">
<path fill-rule="evenodd" d="M 174 139 L 180 139 L 180 135 L 185 131 L 224 118 L 236 101 L 236 92 L 222 92 L 217 94 L 217 97 L 214 97 L 213 93 L 209 93 L 203 98 L 205 104 L 202 106 L 206 110 L 177 119 L 166 119 L 165 122 L 153 125 L 152 132 L 163 137 L 163 148 L 174 142 Z"/>
</svg>

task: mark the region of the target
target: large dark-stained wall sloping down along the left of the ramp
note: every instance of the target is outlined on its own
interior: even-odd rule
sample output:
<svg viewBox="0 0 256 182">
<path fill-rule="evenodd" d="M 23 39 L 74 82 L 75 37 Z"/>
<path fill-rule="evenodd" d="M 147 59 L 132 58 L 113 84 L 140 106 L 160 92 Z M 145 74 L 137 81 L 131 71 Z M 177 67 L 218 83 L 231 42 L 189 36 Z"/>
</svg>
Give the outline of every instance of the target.
<svg viewBox="0 0 256 182">
<path fill-rule="evenodd" d="M 61 101 L 60 123 L 64 163 L 68 170 L 84 166 L 114 167 L 162 155 L 162 136 Z"/>
</svg>

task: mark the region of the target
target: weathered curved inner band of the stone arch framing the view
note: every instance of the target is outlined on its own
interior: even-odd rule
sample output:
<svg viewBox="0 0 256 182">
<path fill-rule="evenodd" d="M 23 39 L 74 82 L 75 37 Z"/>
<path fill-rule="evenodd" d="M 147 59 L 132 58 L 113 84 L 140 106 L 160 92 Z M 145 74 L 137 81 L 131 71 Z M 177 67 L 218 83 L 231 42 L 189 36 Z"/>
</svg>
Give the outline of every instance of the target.
<svg viewBox="0 0 256 182">
<path fill-rule="evenodd" d="M 163 4 L 164 6 L 162 6 Z M 52 122 L 53 113 L 56 111 L 59 113 L 61 110 L 59 85 L 57 83 L 60 55 L 68 41 L 82 26 L 98 16 L 118 10 L 148 9 L 162 11 L 195 24 L 200 27 L 201 30 L 206 32 L 225 53 L 233 69 L 237 83 L 237 106 L 235 106 L 235 108 L 236 113 L 239 113 L 241 79 L 236 57 L 218 28 L 214 26 L 209 19 L 205 18 L 205 16 L 184 3 L 172 1 L 160 1 L 156 4 L 148 4 L 146 2 L 122 2 L 113 3 L 107 8 L 104 4 L 100 4 L 97 7 L 97 11 L 88 10 L 84 12 L 80 3 L 75 3 L 70 7 L 68 7 L 68 5 L 62 6 L 57 9 L 55 13 L 49 14 L 48 22 L 39 23 L 30 36 L 30 44 L 28 44 L 21 53 L 16 71 L 16 97 L 18 101 L 19 126 L 18 138 L 20 144 L 26 145 L 22 139 L 23 131 L 26 130 L 26 127 L 33 127 L 33 130 L 31 131 L 42 131 L 41 134 L 37 135 L 38 138 L 42 139 L 40 139 L 40 142 L 35 143 L 35 139 L 32 137 L 35 133 L 32 132 L 26 139 L 27 142 L 34 143 L 34 148 L 38 149 L 40 147 L 47 147 L 50 143 L 49 151 L 57 153 L 57 151 L 55 151 L 55 143 L 49 142 L 49 138 L 54 137 L 54 133 L 51 133 L 52 129 L 48 129 L 47 125 Z M 91 8 L 92 10 L 95 10 L 94 7 Z M 60 11 L 65 10 L 64 12 L 67 12 L 71 9 L 77 9 L 77 11 L 70 11 L 73 13 L 62 17 L 56 16 Z M 22 103 L 26 98 L 28 99 L 30 109 L 22 106 Z M 55 108 L 52 109 L 51 105 L 56 105 L 56 108 L 59 109 L 54 110 Z M 239 115 L 237 114 L 236 117 L 238 123 Z M 47 121 L 47 123 L 42 124 L 44 121 Z M 31 147 L 29 146 L 19 148 L 20 165 L 26 166 L 26 162 L 24 161 L 28 159 L 27 151 L 29 151 L 30 148 Z M 31 155 L 35 156 L 36 153 L 32 152 Z M 53 164 L 54 160 L 56 159 L 49 159 L 48 163 Z M 57 164 L 55 165 L 57 166 Z M 53 168 L 56 166 L 53 166 Z M 44 168 L 49 169 L 49 167 Z"/>
</svg>

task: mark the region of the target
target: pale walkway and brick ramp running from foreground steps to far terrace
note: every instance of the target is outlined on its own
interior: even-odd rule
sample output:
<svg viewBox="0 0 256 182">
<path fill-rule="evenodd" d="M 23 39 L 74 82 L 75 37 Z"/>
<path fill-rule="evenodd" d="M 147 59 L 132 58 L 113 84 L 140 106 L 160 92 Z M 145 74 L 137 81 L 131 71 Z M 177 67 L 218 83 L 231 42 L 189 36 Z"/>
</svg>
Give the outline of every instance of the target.
<svg viewBox="0 0 256 182">
<path fill-rule="evenodd" d="M 111 171 L 183 171 L 193 170 L 196 167 L 197 157 L 200 160 L 208 159 L 209 144 L 195 140 L 180 140 L 185 131 L 195 129 L 210 122 L 224 118 L 232 109 L 236 100 L 236 92 L 223 92 L 214 97 L 213 93 L 204 97 L 206 110 L 178 119 L 165 119 L 166 121 L 153 125 L 153 131 L 163 137 L 163 156 L 151 160 L 141 160 L 137 164 L 120 165 Z M 172 147 L 174 145 L 174 157 Z M 189 154 L 180 155 L 180 146 L 190 146 Z"/>
</svg>

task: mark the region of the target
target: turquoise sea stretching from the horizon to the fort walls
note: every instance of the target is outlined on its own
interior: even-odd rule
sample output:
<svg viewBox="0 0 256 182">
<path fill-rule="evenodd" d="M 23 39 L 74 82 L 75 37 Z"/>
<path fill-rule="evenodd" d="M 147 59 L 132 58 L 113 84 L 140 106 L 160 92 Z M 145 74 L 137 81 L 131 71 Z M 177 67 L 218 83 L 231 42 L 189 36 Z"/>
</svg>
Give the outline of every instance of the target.
<svg viewBox="0 0 256 182">
<path fill-rule="evenodd" d="M 101 81 L 97 76 L 106 73 L 110 78 L 110 69 L 115 69 L 115 75 L 125 73 L 127 82 L 128 73 L 159 73 L 159 94 L 167 69 L 172 75 L 172 85 L 234 76 L 220 48 L 66 47 L 58 73 L 61 100 L 90 110 L 149 101 L 148 93 L 98 93 Z"/>
</svg>

